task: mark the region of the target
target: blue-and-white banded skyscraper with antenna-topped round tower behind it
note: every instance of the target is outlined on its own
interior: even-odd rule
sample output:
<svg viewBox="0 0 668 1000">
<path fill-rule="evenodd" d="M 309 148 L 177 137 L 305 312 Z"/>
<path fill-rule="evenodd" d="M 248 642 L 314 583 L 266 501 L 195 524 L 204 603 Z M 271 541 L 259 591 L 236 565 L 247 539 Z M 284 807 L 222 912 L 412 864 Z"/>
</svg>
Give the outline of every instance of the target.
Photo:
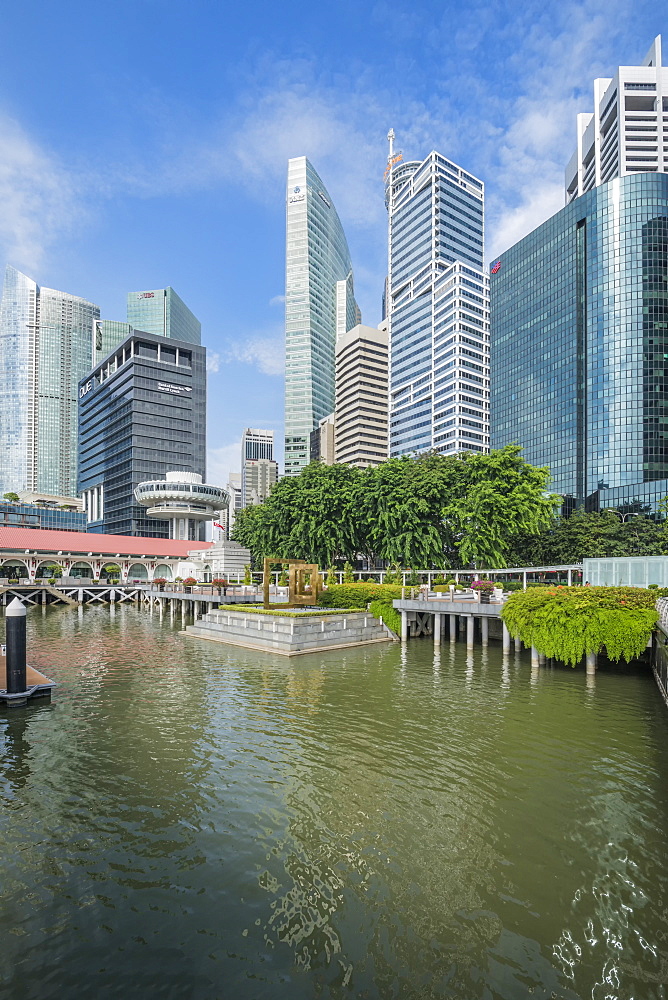
<svg viewBox="0 0 668 1000">
<path fill-rule="evenodd" d="M 390 457 L 489 448 L 484 188 L 432 152 L 400 162 L 390 131 L 385 203 Z"/>
</svg>

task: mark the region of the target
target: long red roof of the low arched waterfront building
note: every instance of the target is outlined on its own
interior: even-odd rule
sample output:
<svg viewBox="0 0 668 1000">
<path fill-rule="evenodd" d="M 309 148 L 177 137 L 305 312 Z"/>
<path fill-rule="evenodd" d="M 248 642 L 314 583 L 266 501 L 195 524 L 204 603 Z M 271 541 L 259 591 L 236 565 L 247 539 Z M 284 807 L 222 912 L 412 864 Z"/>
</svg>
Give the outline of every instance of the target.
<svg viewBox="0 0 668 1000">
<path fill-rule="evenodd" d="M 0 528 L 0 552 L 92 552 L 93 555 L 181 556 L 209 549 L 212 542 L 181 542 L 174 538 L 136 538 L 98 535 L 87 531 L 51 531 L 48 528 Z"/>
</svg>

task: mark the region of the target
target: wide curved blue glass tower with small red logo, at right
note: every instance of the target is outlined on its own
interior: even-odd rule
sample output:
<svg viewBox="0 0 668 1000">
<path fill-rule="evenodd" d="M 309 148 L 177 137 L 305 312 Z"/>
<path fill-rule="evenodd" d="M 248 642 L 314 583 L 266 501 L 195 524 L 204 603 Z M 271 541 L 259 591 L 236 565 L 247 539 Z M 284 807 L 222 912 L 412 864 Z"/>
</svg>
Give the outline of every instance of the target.
<svg viewBox="0 0 668 1000">
<path fill-rule="evenodd" d="M 494 269 L 493 269 L 494 270 Z M 491 275 L 491 443 L 588 506 L 668 493 L 668 175 L 593 188 Z"/>
</svg>

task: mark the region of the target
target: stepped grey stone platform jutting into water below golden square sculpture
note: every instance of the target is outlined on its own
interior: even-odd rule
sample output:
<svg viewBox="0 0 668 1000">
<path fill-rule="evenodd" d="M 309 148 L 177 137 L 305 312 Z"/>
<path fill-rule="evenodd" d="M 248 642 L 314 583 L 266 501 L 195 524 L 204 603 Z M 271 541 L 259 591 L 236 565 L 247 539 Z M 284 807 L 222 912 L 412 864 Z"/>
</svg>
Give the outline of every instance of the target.
<svg viewBox="0 0 668 1000">
<path fill-rule="evenodd" d="M 301 618 L 242 610 L 209 611 L 182 634 L 281 656 L 320 653 L 395 639 L 393 633 L 368 611 L 333 615 L 314 613 Z"/>
</svg>

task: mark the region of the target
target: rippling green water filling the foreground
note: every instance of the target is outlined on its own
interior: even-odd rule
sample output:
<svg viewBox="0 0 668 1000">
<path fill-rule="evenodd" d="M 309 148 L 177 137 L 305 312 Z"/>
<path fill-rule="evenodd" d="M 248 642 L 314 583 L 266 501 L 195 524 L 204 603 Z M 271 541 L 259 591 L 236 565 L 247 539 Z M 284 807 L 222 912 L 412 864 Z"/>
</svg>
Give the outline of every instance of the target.
<svg viewBox="0 0 668 1000">
<path fill-rule="evenodd" d="M 0 709 L 3 1000 L 668 996 L 647 670 L 28 630 L 58 688 Z"/>
</svg>

